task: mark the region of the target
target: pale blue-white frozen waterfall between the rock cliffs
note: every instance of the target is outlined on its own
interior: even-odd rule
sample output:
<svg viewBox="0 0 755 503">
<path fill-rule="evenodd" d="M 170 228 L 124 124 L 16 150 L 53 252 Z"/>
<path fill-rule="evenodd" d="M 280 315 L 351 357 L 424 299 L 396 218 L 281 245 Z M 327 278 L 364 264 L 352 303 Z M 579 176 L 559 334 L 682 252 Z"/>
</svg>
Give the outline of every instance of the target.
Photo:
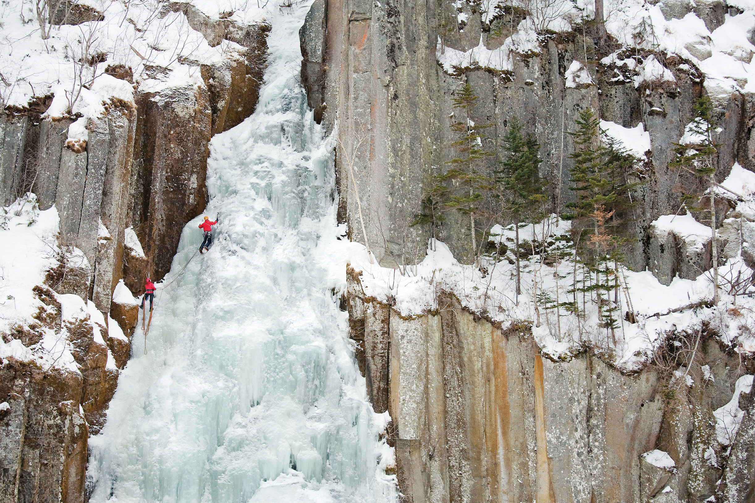
<svg viewBox="0 0 755 503">
<path fill-rule="evenodd" d="M 147 354 L 137 328 L 91 439 L 93 502 L 396 499 L 385 416 L 368 403 L 322 266 L 337 246 L 334 174 L 297 83 L 307 9 L 271 8 L 257 111 L 212 140 L 214 247 L 194 256 L 201 216 L 186 225 Z"/>
</svg>

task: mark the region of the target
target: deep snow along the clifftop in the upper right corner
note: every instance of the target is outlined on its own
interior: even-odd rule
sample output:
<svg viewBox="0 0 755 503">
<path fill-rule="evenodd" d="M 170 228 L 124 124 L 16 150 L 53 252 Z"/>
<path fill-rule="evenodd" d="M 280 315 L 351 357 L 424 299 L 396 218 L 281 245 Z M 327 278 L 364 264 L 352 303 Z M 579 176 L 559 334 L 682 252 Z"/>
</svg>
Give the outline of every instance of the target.
<svg viewBox="0 0 755 503">
<path fill-rule="evenodd" d="M 464 10 L 465 5 L 478 5 L 475 2 L 456 2 L 458 11 Z M 505 2 L 486 0 L 479 4 L 482 11 L 482 21 L 493 21 L 501 14 L 501 5 Z M 528 8 L 528 4 L 515 2 Z M 753 53 L 755 45 L 750 41 L 750 29 L 755 23 L 755 5 L 750 0 L 729 2 L 732 7 L 741 11 L 731 15 L 724 14 L 722 26 L 713 29 L 705 25 L 704 21 L 692 12 L 693 3 L 687 7 L 691 12 L 681 19 L 666 19 L 661 11 L 661 2 L 647 0 L 606 0 L 604 2 L 606 30 L 620 44 L 615 54 L 604 57 L 601 63 L 605 66 L 615 66 L 616 78 L 612 80 L 626 80 L 621 76 L 621 69 L 630 69 L 636 75 L 630 78 L 635 87 L 642 82 L 653 84 L 658 81 L 674 81 L 673 73 L 659 62 L 655 55 L 640 59 L 640 63 L 621 54 L 629 48 L 641 48 L 655 51 L 667 56 L 678 55 L 692 61 L 704 73 L 704 86 L 714 100 L 726 103 L 733 92 L 753 92 L 755 90 L 755 62 Z M 676 5 L 676 4 L 674 4 Z M 683 8 L 681 4 L 677 8 Z M 465 11 L 466 12 L 466 11 Z M 519 23 L 519 26 L 502 43 L 493 37 L 482 34 L 479 44 L 467 51 L 460 51 L 445 45 L 439 37 L 436 46 L 436 57 L 446 72 L 453 74 L 456 69 L 467 67 L 483 67 L 498 71 L 513 69 L 513 57 L 518 54 L 533 54 L 543 50 L 543 42 L 547 35 L 543 33 L 581 32 L 585 21 L 590 22 L 595 16 L 595 3 L 592 0 L 576 0 L 569 2 L 545 2 L 538 5 L 535 17 L 529 16 Z M 504 20 L 506 16 L 504 14 Z M 500 19 L 500 18 L 499 18 Z M 538 33 L 535 32 L 538 26 Z M 492 32 L 493 30 L 489 30 Z M 485 41 L 485 38 L 488 38 Z M 492 45 L 488 45 L 492 44 Z M 583 56 L 587 57 L 587 56 Z M 662 56 L 661 56 L 662 58 Z M 586 64 L 586 61 L 575 62 Z M 572 63 L 574 64 L 574 63 Z M 635 67 L 636 66 L 636 67 Z M 680 69 L 689 71 L 689 65 L 683 63 Z M 565 72 L 565 87 L 575 87 L 569 83 L 569 70 Z M 590 75 L 584 75 L 584 83 L 590 81 Z"/>
</svg>

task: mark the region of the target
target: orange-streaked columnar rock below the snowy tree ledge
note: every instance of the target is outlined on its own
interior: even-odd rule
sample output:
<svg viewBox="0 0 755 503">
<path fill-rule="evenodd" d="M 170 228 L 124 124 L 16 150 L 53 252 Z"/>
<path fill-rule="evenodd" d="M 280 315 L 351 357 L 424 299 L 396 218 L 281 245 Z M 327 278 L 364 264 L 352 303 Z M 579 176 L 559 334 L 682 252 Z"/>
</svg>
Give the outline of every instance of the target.
<svg viewBox="0 0 755 503">
<path fill-rule="evenodd" d="M 590 352 L 549 360 L 528 325 L 502 330 L 451 294 L 404 317 L 365 296 L 359 271 L 347 277 L 351 336 L 376 412 L 387 399 L 404 501 L 645 502 L 664 489 L 669 501 L 747 501 L 750 422 L 729 461 L 714 462 L 726 456 L 713 410 L 731 399 L 739 357 L 712 336 L 680 370 L 689 387 L 659 364 L 625 375 Z M 676 466 L 646 462 L 653 449 Z"/>
</svg>

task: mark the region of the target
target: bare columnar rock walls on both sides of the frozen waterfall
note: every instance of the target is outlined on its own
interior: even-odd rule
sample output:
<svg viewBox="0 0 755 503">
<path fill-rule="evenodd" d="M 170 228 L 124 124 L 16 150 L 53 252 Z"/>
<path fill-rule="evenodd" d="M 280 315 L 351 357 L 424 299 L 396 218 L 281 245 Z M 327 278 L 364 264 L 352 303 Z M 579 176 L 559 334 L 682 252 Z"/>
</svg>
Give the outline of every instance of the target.
<svg viewBox="0 0 755 503">
<path fill-rule="evenodd" d="M 714 94 L 691 60 L 639 48 L 632 57 L 655 58 L 673 84 L 650 79 L 635 85 L 637 75 L 601 62 L 619 46 L 614 40 L 599 44 L 588 23 L 551 33 L 532 51 L 513 51 L 510 70 L 484 62 L 444 68 L 439 52 L 477 44 L 495 49 L 512 34 L 492 32 L 480 5 L 313 2 L 300 32 L 301 79 L 316 121 L 328 130 L 337 127 L 338 216 L 350 238 L 369 244 L 386 267 L 422 259 L 432 231 L 411 222 L 430 176 L 445 170 L 454 155 L 453 97 L 467 81 L 479 96 L 474 120 L 491 124 L 485 148 L 501 151 L 513 116 L 541 141 L 541 174 L 551 181 L 553 203 L 573 197 L 568 133 L 581 109 L 595 109 L 623 127 L 642 122 L 652 149 L 627 262 L 636 270 L 649 268 L 664 283 L 710 267 L 710 244 L 687 250 L 681 238 L 655 235 L 650 222 L 680 207 L 680 176 L 667 165 L 669 152 L 689 122 L 692 103 L 704 94 L 713 97 L 720 125 L 716 179 L 726 178 L 735 161 L 755 170 L 752 95 Z M 669 19 L 694 11 L 711 30 L 722 25 L 724 13 L 738 14 L 720 0 L 661 7 Z M 3 502 L 86 500 L 87 438 L 102 426 L 137 321 L 137 307 L 112 302 L 112 294 L 120 280 L 139 294 L 147 272 L 154 280 L 168 272 L 181 228 L 205 207 L 211 136 L 239 124 L 257 103 L 267 25 L 212 19 L 182 2 L 164 8 L 183 14 L 211 46 L 233 41 L 245 51 L 222 63 L 196 63 L 194 84 L 137 87 L 133 102 L 111 100 L 106 115 L 88 122 L 85 143 L 67 140 L 77 117 L 45 115 L 51 97 L 0 115 L 0 199 L 7 205 L 34 192 L 42 210 L 56 207 L 62 250 L 60 267 L 35 290 L 45 308 L 34 323 L 3 338 L 29 347 L 39 341 L 39 330 L 54 330 L 69 339 L 79 369 L 2 361 L 0 403 L 8 404 L 0 407 Z M 507 12 L 501 19 L 519 22 L 516 11 Z M 576 60 L 585 62 L 591 82 L 567 87 L 565 72 Z M 108 72 L 132 79 L 127 68 Z M 488 172 L 497 161 L 489 159 Z M 723 232 L 729 225 L 724 219 L 741 215 L 732 212 L 734 203 L 721 198 L 720 204 Z M 436 235 L 470 262 L 465 219 L 449 214 Z M 63 294 L 91 301 L 100 314 L 65 319 L 56 300 Z M 359 271 L 351 270 L 346 300 L 374 409 L 393 418 L 388 435 L 405 501 L 705 501 L 712 495 L 716 501 L 755 501 L 750 394 L 740 395 L 744 419 L 730 451 L 711 448 L 717 445 L 712 411 L 728 403 L 738 377 L 755 368 L 747 355 L 720 345 L 712 328 L 695 343 L 695 365 L 657 360 L 627 375 L 587 349 L 569 360 L 550 360 L 529 325 L 502 330 L 462 308 L 453 293 L 442 293 L 438 311 L 405 317 L 365 295 Z M 661 352 L 673 356 L 674 341 L 689 344 L 689 334 L 671 334 Z M 695 384 L 684 384 L 686 376 Z M 675 466 L 646 462 L 641 455 L 652 449 L 668 452 Z"/>
</svg>

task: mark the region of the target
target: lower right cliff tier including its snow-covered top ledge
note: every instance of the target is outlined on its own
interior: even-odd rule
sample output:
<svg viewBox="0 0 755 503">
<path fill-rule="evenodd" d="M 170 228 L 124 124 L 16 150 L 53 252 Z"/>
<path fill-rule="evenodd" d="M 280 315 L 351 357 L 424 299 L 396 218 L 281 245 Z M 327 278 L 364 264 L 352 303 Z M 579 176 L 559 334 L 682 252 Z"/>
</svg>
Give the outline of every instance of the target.
<svg viewBox="0 0 755 503">
<path fill-rule="evenodd" d="M 553 241 L 568 230 L 566 222 L 551 224 Z M 501 241 L 511 232 L 500 229 Z M 542 235 L 538 225 L 519 232 L 522 239 Z M 620 312 L 630 300 L 633 320 L 621 321 L 614 345 L 595 310 L 558 321 L 554 308 L 535 308 L 535 280 L 538 288 L 569 290 L 556 290 L 573 271 L 567 260 L 531 263 L 517 305 L 506 260 L 495 267 L 483 260 L 481 271 L 436 241 L 405 270 L 371 264 L 359 244 L 328 253 L 350 261 L 334 286 L 349 311 L 372 403 L 393 419 L 405 477 L 439 477 L 440 466 L 465 452 L 477 465 L 503 467 L 495 477 L 512 474 L 489 483 L 519 488 L 522 501 L 530 495 L 522 483 L 543 480 L 554 491 L 621 494 L 617 501 L 683 492 L 738 501 L 742 480 L 750 480 L 750 296 L 724 293 L 711 305 L 709 275 L 664 285 L 649 271 L 622 268 L 629 295 L 620 291 Z M 722 277 L 729 268 L 752 275 L 742 259 L 721 266 Z M 432 458 L 411 457 L 414 449 L 432 452 L 436 442 L 443 449 L 435 447 Z M 544 452 L 547 465 L 516 471 Z M 461 471 L 451 479 L 467 477 Z"/>
</svg>

